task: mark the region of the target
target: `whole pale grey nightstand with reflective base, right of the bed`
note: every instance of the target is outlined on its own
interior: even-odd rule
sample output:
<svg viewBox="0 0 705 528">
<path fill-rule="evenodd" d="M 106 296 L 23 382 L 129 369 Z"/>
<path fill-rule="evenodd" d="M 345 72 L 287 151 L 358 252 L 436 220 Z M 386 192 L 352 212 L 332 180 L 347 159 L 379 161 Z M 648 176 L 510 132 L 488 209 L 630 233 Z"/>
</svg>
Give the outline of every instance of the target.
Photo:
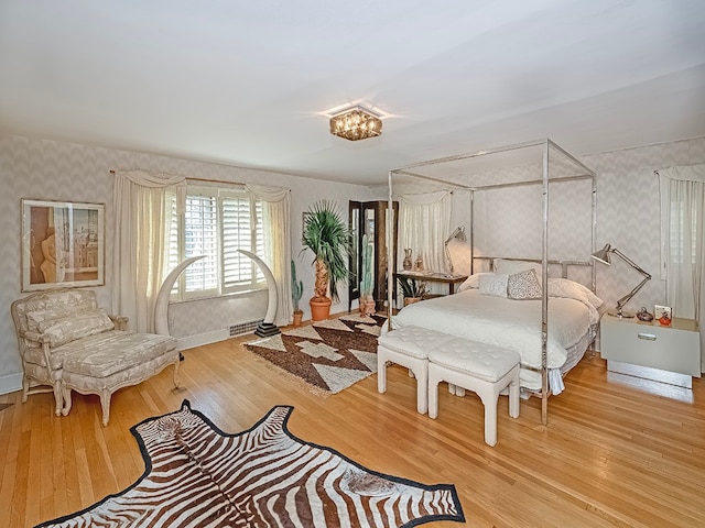
<svg viewBox="0 0 705 528">
<path fill-rule="evenodd" d="M 605 315 L 600 322 L 600 355 L 607 370 L 692 388 L 701 376 L 697 321 L 673 318 L 670 327 L 637 318 Z"/>
</svg>

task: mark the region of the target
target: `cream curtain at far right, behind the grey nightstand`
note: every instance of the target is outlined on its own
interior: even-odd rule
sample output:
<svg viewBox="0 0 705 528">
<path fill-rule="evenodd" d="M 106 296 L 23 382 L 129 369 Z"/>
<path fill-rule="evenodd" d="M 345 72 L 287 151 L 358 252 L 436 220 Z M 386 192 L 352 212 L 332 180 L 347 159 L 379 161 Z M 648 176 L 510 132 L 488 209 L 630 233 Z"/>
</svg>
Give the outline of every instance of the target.
<svg viewBox="0 0 705 528">
<path fill-rule="evenodd" d="M 655 170 L 661 195 L 661 278 L 674 317 L 696 319 L 701 328 L 701 370 L 705 372 L 705 164 Z"/>
</svg>

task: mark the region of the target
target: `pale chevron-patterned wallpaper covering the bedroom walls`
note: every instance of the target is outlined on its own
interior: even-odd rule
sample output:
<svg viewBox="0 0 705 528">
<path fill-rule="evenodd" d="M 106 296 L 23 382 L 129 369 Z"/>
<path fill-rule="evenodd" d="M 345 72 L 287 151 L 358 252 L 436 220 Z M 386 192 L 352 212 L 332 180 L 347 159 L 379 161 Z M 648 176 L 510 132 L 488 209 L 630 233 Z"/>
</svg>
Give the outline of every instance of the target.
<svg viewBox="0 0 705 528">
<path fill-rule="evenodd" d="M 659 186 L 655 168 L 705 163 L 705 138 L 668 144 L 643 146 L 586 156 L 582 160 L 597 174 L 597 235 L 601 248 L 609 242 L 653 275 L 646 287 L 629 304 L 636 309 L 663 304 L 664 283 L 659 278 Z M 0 318 L 0 393 L 19 388 L 21 365 L 14 327 L 9 314 L 10 304 L 22 296 L 20 292 L 20 200 L 21 198 L 53 199 L 106 204 L 106 284 L 112 280 L 111 231 L 112 182 L 111 168 L 142 168 L 155 172 L 184 174 L 194 178 L 219 179 L 237 183 L 260 183 L 292 189 L 292 254 L 304 282 L 305 295 L 313 289 L 312 255 L 300 254 L 301 218 L 307 206 L 319 199 L 337 200 L 347 210 L 348 199 L 386 199 L 386 188 L 369 189 L 361 186 L 318 182 L 308 178 L 261 170 L 178 160 L 144 153 L 102 148 L 72 143 L 33 140 L 15 135 L 0 136 L 0 244 L 4 258 L 0 261 L 0 304 L 6 317 Z M 573 185 L 573 184 L 571 184 Z M 551 198 L 552 222 L 551 256 L 585 260 L 589 246 L 589 197 L 585 198 L 582 183 L 566 187 Z M 487 253 L 517 254 L 535 251 L 540 240 L 540 197 L 511 193 L 495 199 L 476 197 L 478 224 L 477 244 Z M 469 226 L 467 193 L 454 194 L 454 224 Z M 536 222 L 536 220 L 539 220 Z M 512 226 L 519 224 L 519 241 Z M 534 226 L 539 226 L 536 229 Z M 490 231 L 488 228 L 492 228 Z M 539 234 L 536 234 L 539 233 Z M 586 234 L 581 234 L 586 233 Z M 585 239 L 587 237 L 587 239 Z M 587 240 L 587 241 L 586 241 Z M 589 248 L 588 248 L 589 249 Z M 540 250 L 539 250 L 540 251 Z M 577 252 L 578 256 L 574 253 Z M 609 305 L 628 293 L 640 280 L 640 275 L 627 264 L 615 260 L 612 266 L 598 266 L 597 294 Z M 109 288 L 98 287 L 99 302 L 110 306 Z M 347 293 L 334 311 L 347 309 Z M 177 337 L 206 336 L 224 327 L 263 317 L 267 299 L 262 294 L 212 301 L 191 301 L 172 305 L 170 321 Z M 307 304 L 303 306 L 307 309 Z M 305 317 L 308 317 L 306 315 Z"/>
</svg>

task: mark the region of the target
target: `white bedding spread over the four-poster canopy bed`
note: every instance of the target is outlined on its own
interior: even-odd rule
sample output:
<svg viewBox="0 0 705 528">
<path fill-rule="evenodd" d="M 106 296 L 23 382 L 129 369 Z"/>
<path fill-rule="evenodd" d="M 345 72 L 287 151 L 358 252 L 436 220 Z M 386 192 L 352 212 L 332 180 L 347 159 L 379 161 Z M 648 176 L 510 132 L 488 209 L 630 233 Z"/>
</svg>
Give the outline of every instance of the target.
<svg viewBox="0 0 705 528">
<path fill-rule="evenodd" d="M 590 332 L 592 340 L 598 321 L 599 314 L 588 299 L 550 297 L 549 369 L 561 369 L 566 364 L 568 350 L 585 342 Z M 410 324 L 516 350 L 521 355 L 522 366 L 541 367 L 541 300 L 512 300 L 466 289 L 409 305 L 392 318 L 392 328 Z M 539 373 L 522 370 L 521 378 L 522 386 L 541 388 Z M 552 389 L 554 394 L 560 392 L 560 387 L 553 385 Z"/>
</svg>

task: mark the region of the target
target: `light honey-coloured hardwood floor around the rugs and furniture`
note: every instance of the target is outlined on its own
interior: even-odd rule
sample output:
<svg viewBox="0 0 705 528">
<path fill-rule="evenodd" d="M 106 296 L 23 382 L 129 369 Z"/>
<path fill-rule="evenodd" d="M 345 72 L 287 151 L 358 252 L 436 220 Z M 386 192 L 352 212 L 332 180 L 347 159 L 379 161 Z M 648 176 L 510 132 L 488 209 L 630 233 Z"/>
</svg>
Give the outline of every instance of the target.
<svg viewBox="0 0 705 528">
<path fill-rule="evenodd" d="M 441 391 L 436 420 L 415 411 L 415 381 L 388 370 L 323 398 L 281 375 L 240 343 L 187 350 L 183 389 L 171 369 L 112 398 L 100 425 L 96 396 L 75 395 L 67 417 L 52 395 L 0 396 L 0 526 L 33 526 L 99 501 L 144 471 L 129 429 L 178 408 L 184 398 L 218 427 L 236 432 L 272 406 L 295 407 L 289 427 L 369 469 L 427 484 L 455 484 L 471 527 L 705 526 L 705 382 L 692 391 L 612 375 L 586 356 L 549 403 L 522 400 L 512 420 L 500 397 L 497 447 L 484 443 L 477 397 Z M 429 526 L 459 526 L 436 522 Z"/>
</svg>

